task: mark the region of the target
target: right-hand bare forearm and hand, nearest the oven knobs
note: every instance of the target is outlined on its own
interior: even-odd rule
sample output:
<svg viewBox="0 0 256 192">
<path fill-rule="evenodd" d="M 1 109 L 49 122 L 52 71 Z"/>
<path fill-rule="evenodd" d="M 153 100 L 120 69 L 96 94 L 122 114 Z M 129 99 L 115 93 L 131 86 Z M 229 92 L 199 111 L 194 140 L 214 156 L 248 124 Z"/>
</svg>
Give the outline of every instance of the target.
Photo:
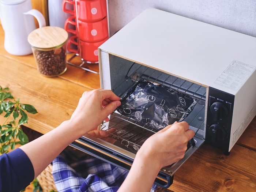
<svg viewBox="0 0 256 192">
<path fill-rule="evenodd" d="M 148 138 L 140 147 L 118 192 L 147 192 L 162 167 L 184 157 L 187 143 L 195 135 L 186 122 L 175 122 Z"/>
</svg>

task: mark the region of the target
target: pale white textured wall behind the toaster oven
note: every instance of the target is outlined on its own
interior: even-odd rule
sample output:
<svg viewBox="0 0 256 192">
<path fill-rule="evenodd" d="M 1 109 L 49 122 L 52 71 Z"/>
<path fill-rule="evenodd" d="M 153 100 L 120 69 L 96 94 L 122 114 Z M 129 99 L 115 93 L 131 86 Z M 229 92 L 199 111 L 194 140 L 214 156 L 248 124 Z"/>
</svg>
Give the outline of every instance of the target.
<svg viewBox="0 0 256 192">
<path fill-rule="evenodd" d="M 256 0 L 108 0 L 110 35 L 148 7 L 256 37 Z"/>
</svg>

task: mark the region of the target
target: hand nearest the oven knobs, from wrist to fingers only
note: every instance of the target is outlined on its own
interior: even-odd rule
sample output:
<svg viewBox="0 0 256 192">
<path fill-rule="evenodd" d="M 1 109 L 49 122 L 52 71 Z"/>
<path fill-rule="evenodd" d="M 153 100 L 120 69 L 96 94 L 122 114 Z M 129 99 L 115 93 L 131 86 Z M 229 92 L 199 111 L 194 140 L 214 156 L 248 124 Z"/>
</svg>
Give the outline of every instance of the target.
<svg viewBox="0 0 256 192">
<path fill-rule="evenodd" d="M 136 157 L 142 163 L 158 167 L 158 171 L 167 165 L 182 159 L 187 150 L 187 143 L 195 132 L 188 129 L 186 122 L 175 122 L 155 133 L 144 142 Z"/>
</svg>

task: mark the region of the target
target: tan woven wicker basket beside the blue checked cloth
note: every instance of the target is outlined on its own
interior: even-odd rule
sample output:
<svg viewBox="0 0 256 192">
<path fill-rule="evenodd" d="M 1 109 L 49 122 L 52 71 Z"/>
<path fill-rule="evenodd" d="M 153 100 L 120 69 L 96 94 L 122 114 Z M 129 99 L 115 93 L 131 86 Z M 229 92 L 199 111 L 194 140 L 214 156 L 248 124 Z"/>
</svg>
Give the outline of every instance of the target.
<svg viewBox="0 0 256 192">
<path fill-rule="evenodd" d="M 48 165 L 48 167 L 46 167 L 46 169 L 41 174 L 39 174 L 37 180 L 41 185 L 43 192 L 49 192 L 52 189 L 57 191 L 52 176 L 52 165 Z"/>
</svg>

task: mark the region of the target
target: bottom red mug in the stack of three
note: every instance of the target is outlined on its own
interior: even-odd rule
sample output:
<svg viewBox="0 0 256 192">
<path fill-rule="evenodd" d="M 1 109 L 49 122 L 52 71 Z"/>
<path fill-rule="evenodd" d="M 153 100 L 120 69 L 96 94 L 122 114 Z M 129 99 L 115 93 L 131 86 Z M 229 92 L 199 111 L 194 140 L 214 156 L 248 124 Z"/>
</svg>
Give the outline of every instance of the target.
<svg viewBox="0 0 256 192">
<path fill-rule="evenodd" d="M 75 39 L 78 39 L 76 36 L 72 36 L 68 40 L 68 51 L 78 53 L 79 54 L 79 43 L 75 41 Z M 108 37 L 98 41 L 98 42 L 85 42 L 80 40 L 80 47 L 81 47 L 81 57 L 85 61 L 89 61 L 91 63 L 96 63 L 99 61 L 98 58 L 98 47 L 103 44 L 106 40 L 108 40 Z M 70 48 L 71 44 L 75 44 L 78 46 L 78 49 L 72 49 Z"/>
</svg>

